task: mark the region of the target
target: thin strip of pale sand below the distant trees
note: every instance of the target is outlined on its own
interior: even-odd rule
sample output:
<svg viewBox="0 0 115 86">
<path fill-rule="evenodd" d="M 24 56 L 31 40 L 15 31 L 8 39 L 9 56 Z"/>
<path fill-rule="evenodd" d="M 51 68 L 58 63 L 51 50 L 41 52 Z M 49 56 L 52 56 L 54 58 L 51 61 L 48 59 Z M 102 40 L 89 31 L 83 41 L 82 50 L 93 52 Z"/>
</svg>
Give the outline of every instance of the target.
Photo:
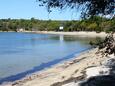
<svg viewBox="0 0 115 86">
<path fill-rule="evenodd" d="M 4 32 L 4 31 L 0 31 Z M 5 31 L 7 32 L 7 31 Z M 15 32 L 15 31 L 8 31 Z M 56 31 L 22 31 L 21 33 L 36 33 L 36 34 L 51 34 L 51 35 L 70 35 L 70 36 L 78 36 L 78 37 L 106 37 L 106 32 L 97 33 L 95 31 L 87 32 L 87 31 L 79 31 L 79 32 L 56 32 Z M 115 37 L 115 33 L 114 33 Z"/>
</svg>

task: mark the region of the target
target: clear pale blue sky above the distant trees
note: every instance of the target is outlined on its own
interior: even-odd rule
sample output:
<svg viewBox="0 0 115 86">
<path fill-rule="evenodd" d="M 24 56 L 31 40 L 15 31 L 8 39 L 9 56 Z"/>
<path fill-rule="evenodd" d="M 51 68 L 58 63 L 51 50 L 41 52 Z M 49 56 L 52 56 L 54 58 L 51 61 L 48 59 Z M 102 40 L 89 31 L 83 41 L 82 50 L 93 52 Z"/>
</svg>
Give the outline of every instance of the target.
<svg viewBox="0 0 115 86">
<path fill-rule="evenodd" d="M 0 0 L 0 19 L 78 20 L 80 12 L 54 9 L 50 14 L 36 0 Z"/>
</svg>

